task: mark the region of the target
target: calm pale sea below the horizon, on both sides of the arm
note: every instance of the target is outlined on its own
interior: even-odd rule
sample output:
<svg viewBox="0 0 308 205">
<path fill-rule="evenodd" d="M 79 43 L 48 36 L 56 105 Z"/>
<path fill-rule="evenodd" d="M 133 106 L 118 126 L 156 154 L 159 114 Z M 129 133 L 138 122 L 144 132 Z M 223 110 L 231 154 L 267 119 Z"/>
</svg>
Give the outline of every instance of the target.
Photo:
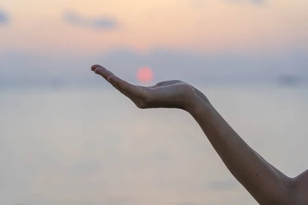
<svg viewBox="0 0 308 205">
<path fill-rule="evenodd" d="M 308 168 L 308 89 L 198 87 L 288 176 Z M 110 86 L 0 88 L 0 204 L 257 204 L 195 120 Z"/>
</svg>

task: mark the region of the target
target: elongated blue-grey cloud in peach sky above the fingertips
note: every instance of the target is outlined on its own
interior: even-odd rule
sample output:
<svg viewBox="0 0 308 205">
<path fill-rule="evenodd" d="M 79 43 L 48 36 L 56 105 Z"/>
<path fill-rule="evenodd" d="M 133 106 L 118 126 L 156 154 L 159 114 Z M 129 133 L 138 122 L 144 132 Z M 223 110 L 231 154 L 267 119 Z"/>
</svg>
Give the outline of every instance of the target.
<svg viewBox="0 0 308 205">
<path fill-rule="evenodd" d="M 108 16 L 90 18 L 75 12 L 66 12 L 64 13 L 63 17 L 65 22 L 76 27 L 101 29 L 101 30 L 113 30 L 118 27 L 117 19 Z"/>
</svg>

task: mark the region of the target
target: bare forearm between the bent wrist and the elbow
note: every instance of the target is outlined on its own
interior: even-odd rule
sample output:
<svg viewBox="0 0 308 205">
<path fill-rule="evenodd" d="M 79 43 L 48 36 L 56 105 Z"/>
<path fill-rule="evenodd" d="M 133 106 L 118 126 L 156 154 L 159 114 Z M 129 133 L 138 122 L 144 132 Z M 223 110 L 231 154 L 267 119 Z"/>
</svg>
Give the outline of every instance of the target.
<svg viewBox="0 0 308 205">
<path fill-rule="evenodd" d="M 290 200 L 292 180 L 270 165 L 230 127 L 203 94 L 188 112 L 196 119 L 228 170 L 260 204 Z"/>
</svg>

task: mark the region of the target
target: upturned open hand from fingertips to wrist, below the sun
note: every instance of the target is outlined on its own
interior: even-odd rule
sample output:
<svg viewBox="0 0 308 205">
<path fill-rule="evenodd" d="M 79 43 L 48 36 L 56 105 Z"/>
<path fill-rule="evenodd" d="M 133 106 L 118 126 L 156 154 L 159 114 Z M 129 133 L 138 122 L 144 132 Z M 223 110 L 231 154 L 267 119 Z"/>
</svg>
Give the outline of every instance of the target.
<svg viewBox="0 0 308 205">
<path fill-rule="evenodd" d="M 162 81 L 155 86 L 144 87 L 129 84 L 100 65 L 92 66 L 91 70 L 104 77 L 141 109 L 179 108 L 187 110 L 196 97 L 197 89 L 181 80 Z"/>
</svg>

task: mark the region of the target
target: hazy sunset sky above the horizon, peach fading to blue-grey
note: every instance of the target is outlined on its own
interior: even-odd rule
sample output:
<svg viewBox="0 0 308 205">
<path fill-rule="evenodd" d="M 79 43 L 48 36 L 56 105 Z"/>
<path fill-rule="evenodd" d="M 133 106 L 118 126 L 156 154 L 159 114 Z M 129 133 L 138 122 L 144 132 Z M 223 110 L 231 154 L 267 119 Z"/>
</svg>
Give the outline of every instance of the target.
<svg viewBox="0 0 308 205">
<path fill-rule="evenodd" d="M 305 0 L 2 0 L 0 79 L 308 75 Z"/>
</svg>

